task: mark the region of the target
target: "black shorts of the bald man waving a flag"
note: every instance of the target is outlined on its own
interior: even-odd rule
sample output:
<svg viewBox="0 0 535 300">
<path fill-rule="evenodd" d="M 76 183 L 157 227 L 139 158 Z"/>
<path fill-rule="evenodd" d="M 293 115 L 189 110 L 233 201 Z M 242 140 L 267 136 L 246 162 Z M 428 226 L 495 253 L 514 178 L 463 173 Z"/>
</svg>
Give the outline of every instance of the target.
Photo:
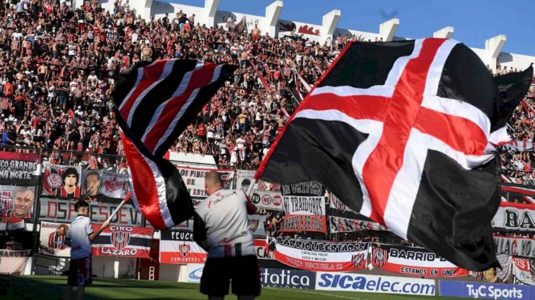
<svg viewBox="0 0 535 300">
<path fill-rule="evenodd" d="M 232 293 L 238 296 L 260 296 L 260 266 L 255 256 L 208 258 L 201 276 L 201 292 L 225 296 L 232 279 Z"/>
</svg>

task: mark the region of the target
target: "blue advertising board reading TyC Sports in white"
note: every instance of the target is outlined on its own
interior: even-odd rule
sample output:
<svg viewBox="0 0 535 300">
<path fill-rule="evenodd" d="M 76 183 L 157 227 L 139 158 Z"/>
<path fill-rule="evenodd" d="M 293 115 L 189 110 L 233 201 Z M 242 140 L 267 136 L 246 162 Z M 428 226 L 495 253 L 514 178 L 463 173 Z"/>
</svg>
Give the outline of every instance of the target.
<svg viewBox="0 0 535 300">
<path fill-rule="evenodd" d="M 439 291 L 440 296 L 473 299 L 529 300 L 535 295 L 535 288 L 528 286 L 442 280 Z"/>
</svg>

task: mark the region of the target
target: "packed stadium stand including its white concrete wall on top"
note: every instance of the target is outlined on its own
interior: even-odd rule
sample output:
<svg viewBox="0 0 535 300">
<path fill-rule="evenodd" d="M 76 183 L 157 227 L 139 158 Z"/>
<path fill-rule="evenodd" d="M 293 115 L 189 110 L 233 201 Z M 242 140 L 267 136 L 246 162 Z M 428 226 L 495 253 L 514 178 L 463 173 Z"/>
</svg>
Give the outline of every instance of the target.
<svg viewBox="0 0 535 300">
<path fill-rule="evenodd" d="M 220 11 L 218 3 L 207 0 L 205 7 L 194 7 L 150 0 L 3 1 L 3 151 L 39 153 L 52 164 L 126 174 L 110 98 L 117 74 L 141 61 L 189 58 L 240 68 L 171 152 L 211 156 L 223 169 L 254 170 L 289 115 L 349 41 L 404 39 L 395 36 L 398 19 L 381 24 L 379 33 L 368 33 L 338 28 L 339 10 L 325 14 L 322 25 L 313 25 L 280 20 L 281 1 L 266 7 L 265 16 Z M 453 32 L 453 27 L 446 27 L 434 36 L 451 38 Z M 488 39 L 484 49 L 474 49 L 490 72 L 524 70 L 535 62 L 535 57 L 501 53 L 505 42 L 506 37 L 499 35 Z M 503 181 L 513 187 L 525 185 L 531 192 L 534 100 L 532 88 L 508 124 L 513 143 L 501 148 Z M 514 189 L 505 191 L 503 200 L 535 203 Z M 258 208 L 258 213 L 266 215 L 268 235 L 281 235 L 280 212 Z M 292 237 L 320 239 L 322 234 L 303 232 Z M 377 230 L 332 238 L 411 245 L 391 232 Z"/>
</svg>

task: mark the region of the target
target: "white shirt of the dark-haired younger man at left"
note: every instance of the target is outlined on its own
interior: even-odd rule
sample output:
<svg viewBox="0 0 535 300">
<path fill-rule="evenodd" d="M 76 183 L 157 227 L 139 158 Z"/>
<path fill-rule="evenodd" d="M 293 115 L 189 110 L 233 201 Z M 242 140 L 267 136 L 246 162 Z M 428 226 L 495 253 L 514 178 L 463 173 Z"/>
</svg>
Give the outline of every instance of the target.
<svg viewBox="0 0 535 300">
<path fill-rule="evenodd" d="M 79 215 L 72 221 L 67 231 L 67 238 L 71 239 L 71 259 L 84 258 L 91 255 L 91 242 L 88 235 L 93 233 L 91 219 Z"/>
</svg>

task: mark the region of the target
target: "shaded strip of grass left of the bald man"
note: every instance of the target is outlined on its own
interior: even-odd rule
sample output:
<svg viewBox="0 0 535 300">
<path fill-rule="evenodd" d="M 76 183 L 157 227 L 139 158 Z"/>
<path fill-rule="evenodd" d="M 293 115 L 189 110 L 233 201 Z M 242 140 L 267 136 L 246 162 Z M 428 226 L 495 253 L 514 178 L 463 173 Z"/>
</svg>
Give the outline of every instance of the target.
<svg viewBox="0 0 535 300">
<path fill-rule="evenodd" d="M 86 288 L 88 299 L 204 299 L 196 284 L 101 278 L 93 283 Z M 0 298 L 60 299 L 66 284 L 66 276 L 0 275 Z"/>
</svg>

